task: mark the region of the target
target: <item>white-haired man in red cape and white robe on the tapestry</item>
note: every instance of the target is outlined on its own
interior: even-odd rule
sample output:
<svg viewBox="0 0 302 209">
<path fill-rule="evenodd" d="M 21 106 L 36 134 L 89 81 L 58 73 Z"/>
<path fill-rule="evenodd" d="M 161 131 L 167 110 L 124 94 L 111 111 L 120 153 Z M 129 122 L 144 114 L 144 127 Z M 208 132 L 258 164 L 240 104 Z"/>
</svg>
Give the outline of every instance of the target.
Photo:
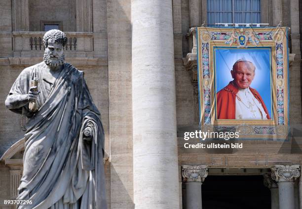
<svg viewBox="0 0 302 209">
<path fill-rule="evenodd" d="M 235 61 L 230 71 L 233 80 L 216 95 L 217 119 L 270 119 L 260 93 L 250 87 L 255 71 L 252 61 Z"/>
</svg>

